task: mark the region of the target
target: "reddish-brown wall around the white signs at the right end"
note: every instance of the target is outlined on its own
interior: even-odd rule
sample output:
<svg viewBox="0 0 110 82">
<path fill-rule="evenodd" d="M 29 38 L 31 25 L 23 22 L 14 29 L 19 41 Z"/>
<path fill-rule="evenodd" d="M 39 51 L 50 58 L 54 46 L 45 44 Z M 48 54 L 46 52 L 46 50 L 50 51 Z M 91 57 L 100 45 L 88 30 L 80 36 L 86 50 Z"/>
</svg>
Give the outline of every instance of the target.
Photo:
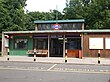
<svg viewBox="0 0 110 82">
<path fill-rule="evenodd" d="M 98 50 L 89 49 L 89 38 L 103 38 L 104 49 L 100 50 L 102 58 L 110 58 L 110 49 L 105 49 L 105 38 L 110 38 L 110 33 L 87 33 L 83 37 L 83 57 L 97 57 Z"/>
</svg>

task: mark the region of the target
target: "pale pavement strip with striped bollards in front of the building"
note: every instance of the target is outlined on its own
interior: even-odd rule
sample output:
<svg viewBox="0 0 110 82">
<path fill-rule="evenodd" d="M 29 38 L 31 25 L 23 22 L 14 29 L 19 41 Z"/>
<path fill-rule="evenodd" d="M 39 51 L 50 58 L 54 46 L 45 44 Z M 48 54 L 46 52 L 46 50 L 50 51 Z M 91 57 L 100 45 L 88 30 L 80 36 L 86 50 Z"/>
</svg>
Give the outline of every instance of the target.
<svg viewBox="0 0 110 82">
<path fill-rule="evenodd" d="M 34 58 L 34 57 L 26 57 L 26 56 L 9 56 L 9 57 L 4 56 L 4 57 L 0 57 L 0 61 L 110 65 L 110 58 L 100 58 L 100 64 L 98 64 L 98 58 L 91 58 L 91 57 L 83 57 L 82 59 L 67 58 L 67 62 L 65 62 L 65 58 L 61 58 L 61 57 Z"/>
</svg>

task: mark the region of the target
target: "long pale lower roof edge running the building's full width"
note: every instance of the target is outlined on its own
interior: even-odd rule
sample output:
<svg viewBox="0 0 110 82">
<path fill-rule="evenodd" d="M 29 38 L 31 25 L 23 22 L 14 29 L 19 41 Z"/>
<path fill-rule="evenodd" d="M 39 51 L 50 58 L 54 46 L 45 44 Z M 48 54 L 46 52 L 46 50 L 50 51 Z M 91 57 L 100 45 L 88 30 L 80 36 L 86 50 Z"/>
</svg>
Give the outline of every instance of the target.
<svg viewBox="0 0 110 82">
<path fill-rule="evenodd" d="M 9 31 L 4 34 L 43 34 L 43 33 L 110 33 L 110 30 L 42 30 L 42 31 Z"/>
</svg>

